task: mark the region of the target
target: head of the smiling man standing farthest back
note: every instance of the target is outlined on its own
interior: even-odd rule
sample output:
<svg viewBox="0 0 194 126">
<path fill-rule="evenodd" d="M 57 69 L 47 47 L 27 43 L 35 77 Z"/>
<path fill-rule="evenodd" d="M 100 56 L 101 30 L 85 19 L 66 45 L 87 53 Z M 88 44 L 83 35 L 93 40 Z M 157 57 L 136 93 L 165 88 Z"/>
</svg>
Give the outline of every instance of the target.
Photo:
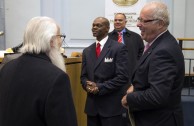
<svg viewBox="0 0 194 126">
<path fill-rule="evenodd" d="M 118 32 L 122 31 L 126 26 L 127 20 L 123 13 L 117 13 L 114 17 L 114 28 Z"/>
</svg>

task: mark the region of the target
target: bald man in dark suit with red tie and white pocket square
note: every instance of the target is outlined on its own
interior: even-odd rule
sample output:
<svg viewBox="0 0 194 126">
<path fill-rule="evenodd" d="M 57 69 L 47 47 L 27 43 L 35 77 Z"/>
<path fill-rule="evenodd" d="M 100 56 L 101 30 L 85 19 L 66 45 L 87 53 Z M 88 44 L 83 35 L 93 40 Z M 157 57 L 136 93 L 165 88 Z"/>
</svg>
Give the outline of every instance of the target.
<svg viewBox="0 0 194 126">
<path fill-rule="evenodd" d="M 96 42 L 85 48 L 82 55 L 81 83 L 87 91 L 88 126 L 126 125 L 126 109 L 121 98 L 129 80 L 128 52 L 124 44 L 108 38 L 109 25 L 104 17 L 94 20 L 92 32 Z"/>
</svg>

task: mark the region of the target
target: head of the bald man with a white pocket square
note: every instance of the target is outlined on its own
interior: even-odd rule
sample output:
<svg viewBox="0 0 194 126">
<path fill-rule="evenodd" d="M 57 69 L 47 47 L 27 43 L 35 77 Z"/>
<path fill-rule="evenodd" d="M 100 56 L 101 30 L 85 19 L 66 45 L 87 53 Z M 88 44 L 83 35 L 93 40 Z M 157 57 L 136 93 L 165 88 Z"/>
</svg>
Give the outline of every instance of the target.
<svg viewBox="0 0 194 126">
<path fill-rule="evenodd" d="M 93 36 L 96 37 L 98 41 L 101 41 L 108 35 L 110 29 L 110 23 L 108 19 L 104 17 L 98 17 L 94 20 L 92 24 Z"/>
</svg>

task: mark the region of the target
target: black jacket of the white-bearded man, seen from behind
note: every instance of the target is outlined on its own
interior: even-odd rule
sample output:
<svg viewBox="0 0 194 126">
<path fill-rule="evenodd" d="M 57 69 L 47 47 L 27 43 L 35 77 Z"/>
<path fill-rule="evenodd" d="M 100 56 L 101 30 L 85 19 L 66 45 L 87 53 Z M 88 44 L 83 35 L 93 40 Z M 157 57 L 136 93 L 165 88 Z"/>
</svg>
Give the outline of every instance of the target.
<svg viewBox="0 0 194 126">
<path fill-rule="evenodd" d="M 76 126 L 68 75 L 45 54 L 24 54 L 0 71 L 0 126 Z"/>
</svg>

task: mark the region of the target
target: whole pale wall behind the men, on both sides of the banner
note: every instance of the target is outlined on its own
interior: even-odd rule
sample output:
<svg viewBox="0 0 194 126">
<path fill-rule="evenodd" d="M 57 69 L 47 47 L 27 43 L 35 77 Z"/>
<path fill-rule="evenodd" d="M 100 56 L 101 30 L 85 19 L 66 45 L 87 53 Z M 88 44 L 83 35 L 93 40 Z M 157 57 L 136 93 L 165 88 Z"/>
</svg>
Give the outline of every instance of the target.
<svg viewBox="0 0 194 126">
<path fill-rule="evenodd" d="M 66 43 L 69 48 L 66 47 L 66 53 L 69 56 L 72 51 L 82 51 L 83 48 L 94 42 L 91 34 L 92 22 L 96 17 L 105 15 L 104 0 L 4 1 L 6 48 L 16 46 L 22 42 L 23 30 L 27 21 L 31 17 L 42 15 L 54 18 L 61 26 L 62 32 L 67 35 Z M 194 1 L 159 1 L 165 2 L 169 7 L 171 13 L 170 32 L 176 38 L 194 38 L 192 28 L 194 25 L 194 16 L 192 16 Z M 187 52 L 184 53 L 187 55 Z"/>
</svg>

